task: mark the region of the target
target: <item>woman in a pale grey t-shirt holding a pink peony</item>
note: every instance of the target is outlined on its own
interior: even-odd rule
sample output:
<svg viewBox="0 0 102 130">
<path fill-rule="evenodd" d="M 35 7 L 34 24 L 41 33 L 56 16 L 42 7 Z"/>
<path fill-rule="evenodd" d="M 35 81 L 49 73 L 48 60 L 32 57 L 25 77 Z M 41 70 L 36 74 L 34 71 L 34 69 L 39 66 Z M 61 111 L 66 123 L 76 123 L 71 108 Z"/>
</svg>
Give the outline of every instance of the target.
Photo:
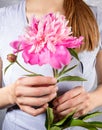
<svg viewBox="0 0 102 130">
<path fill-rule="evenodd" d="M 0 10 L 0 52 L 3 70 L 7 66 L 5 57 L 11 52 L 9 43 L 23 32 L 33 15 L 41 18 L 50 12 L 60 12 L 70 21 L 69 25 L 72 26 L 73 34 L 84 36 L 85 44 L 77 50 L 81 64 L 70 73 L 82 76 L 87 81 L 58 84 L 58 92 L 61 96 L 53 101 L 57 118 L 64 117 L 73 110 L 77 110 L 74 116 L 79 117 L 102 106 L 100 100 L 102 98 L 102 50 L 97 26 L 98 23 L 101 33 L 101 11 L 97 7 L 90 8 L 82 0 L 22 0 L 18 5 Z M 23 64 L 22 59 L 20 62 Z M 76 62 L 73 59 L 71 65 Z M 8 87 L 0 90 L 1 107 L 17 104 L 22 110 L 17 106 L 8 109 L 3 130 L 46 130 L 44 111 L 48 102 L 56 96 L 56 80 L 51 78 L 52 70 L 49 65 L 29 67 L 24 64 L 24 66 L 50 77 L 20 78 L 25 72 L 16 65 L 3 75 L 4 84 Z M 97 88 L 95 88 L 96 79 Z M 32 106 L 38 108 L 34 109 Z M 83 130 L 79 127 L 68 129 Z"/>
</svg>

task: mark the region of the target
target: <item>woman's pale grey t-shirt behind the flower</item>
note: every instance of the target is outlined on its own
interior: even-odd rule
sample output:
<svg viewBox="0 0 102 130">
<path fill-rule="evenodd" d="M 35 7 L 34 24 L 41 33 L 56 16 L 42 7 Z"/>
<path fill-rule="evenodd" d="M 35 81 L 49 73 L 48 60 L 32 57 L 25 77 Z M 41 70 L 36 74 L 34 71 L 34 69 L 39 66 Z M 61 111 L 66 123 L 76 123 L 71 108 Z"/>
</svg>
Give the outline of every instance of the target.
<svg viewBox="0 0 102 130">
<path fill-rule="evenodd" d="M 100 34 L 102 37 L 102 10 L 93 6 L 91 6 L 91 9 L 96 16 L 100 29 Z M 0 9 L 0 56 L 3 60 L 3 72 L 5 67 L 9 64 L 6 59 L 7 54 L 12 52 L 12 48 L 10 47 L 9 43 L 13 40 L 16 40 L 19 35 L 23 34 L 24 27 L 26 25 L 27 20 L 25 12 L 25 0 L 21 0 L 21 2 L 17 5 Z M 99 46 L 94 51 L 84 51 L 82 53 L 79 53 L 81 64 L 79 64 L 79 62 L 75 58 L 70 64 L 70 66 L 75 64 L 78 64 L 78 66 L 74 70 L 70 71 L 69 74 L 81 76 L 87 79 L 87 81 L 59 83 L 59 93 L 64 93 L 65 91 L 68 91 L 79 85 L 84 86 L 87 91 L 91 91 L 97 86 L 95 62 L 96 55 L 98 51 L 102 48 L 101 37 Z M 25 64 L 21 57 L 19 58 L 19 61 L 23 66 L 36 73 L 41 73 L 46 76 L 53 75 L 52 68 L 49 65 L 44 65 L 41 67 L 39 67 L 38 65 L 30 66 Z M 5 75 L 3 74 L 4 85 L 6 86 L 13 83 L 16 79 L 24 74 L 26 74 L 26 72 L 23 71 L 19 66 L 17 66 L 16 64 L 13 65 L 9 68 Z M 15 126 L 15 130 L 16 126 L 20 127 L 19 130 L 45 130 L 45 114 L 33 117 L 25 112 L 22 112 L 21 110 L 13 110 L 6 114 L 3 130 L 11 130 L 12 125 L 10 125 L 10 123 Z M 7 124 L 9 124 L 9 128 Z M 71 129 L 76 130 L 77 128 L 75 127 Z M 83 130 L 82 128 L 78 127 L 78 130 L 79 129 Z"/>
</svg>

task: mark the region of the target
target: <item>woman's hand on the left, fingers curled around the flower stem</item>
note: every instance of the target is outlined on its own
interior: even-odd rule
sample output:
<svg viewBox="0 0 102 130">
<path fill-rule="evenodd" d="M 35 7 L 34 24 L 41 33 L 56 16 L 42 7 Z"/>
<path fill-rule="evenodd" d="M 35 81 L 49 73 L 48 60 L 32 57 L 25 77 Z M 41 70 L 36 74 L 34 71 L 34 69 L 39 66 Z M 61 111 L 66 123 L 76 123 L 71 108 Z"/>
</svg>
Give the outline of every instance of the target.
<svg viewBox="0 0 102 130">
<path fill-rule="evenodd" d="M 56 82 L 56 79 L 44 76 L 20 78 L 13 85 L 12 95 L 21 110 L 36 116 L 43 113 L 48 102 L 56 97 Z"/>
</svg>

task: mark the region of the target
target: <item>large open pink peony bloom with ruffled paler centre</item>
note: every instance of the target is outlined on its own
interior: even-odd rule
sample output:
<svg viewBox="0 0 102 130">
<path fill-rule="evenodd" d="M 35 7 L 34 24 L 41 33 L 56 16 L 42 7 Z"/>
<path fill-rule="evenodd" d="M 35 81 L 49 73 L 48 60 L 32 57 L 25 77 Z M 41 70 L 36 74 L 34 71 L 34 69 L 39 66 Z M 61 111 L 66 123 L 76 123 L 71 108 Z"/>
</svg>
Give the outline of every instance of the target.
<svg viewBox="0 0 102 130">
<path fill-rule="evenodd" d="M 24 35 L 11 46 L 14 52 L 22 52 L 26 63 L 31 65 L 50 64 L 59 69 L 70 63 L 68 48 L 78 48 L 83 37 L 73 37 L 71 27 L 63 15 L 50 13 L 40 20 L 33 17 Z"/>
</svg>

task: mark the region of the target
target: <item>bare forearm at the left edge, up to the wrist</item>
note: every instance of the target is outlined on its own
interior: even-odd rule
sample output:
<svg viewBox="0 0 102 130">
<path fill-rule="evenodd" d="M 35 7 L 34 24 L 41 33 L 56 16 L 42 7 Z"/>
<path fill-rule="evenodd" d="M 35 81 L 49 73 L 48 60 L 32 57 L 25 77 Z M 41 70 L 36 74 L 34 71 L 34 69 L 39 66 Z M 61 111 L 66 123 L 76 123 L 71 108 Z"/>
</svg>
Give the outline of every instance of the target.
<svg viewBox="0 0 102 130">
<path fill-rule="evenodd" d="M 12 85 L 0 88 L 0 109 L 9 107 L 10 105 L 14 104 L 12 89 Z"/>
</svg>

